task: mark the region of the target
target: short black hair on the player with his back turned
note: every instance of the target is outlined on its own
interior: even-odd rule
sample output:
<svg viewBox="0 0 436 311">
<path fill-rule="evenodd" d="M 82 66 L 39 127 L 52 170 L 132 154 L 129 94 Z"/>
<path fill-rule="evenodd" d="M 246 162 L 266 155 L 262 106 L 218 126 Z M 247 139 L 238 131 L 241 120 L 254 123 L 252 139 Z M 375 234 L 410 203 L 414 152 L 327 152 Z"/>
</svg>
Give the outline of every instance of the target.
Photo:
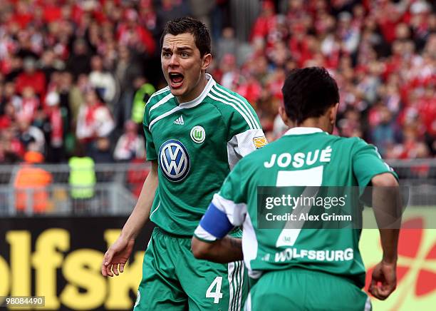
<svg viewBox="0 0 436 311">
<path fill-rule="evenodd" d="M 339 102 L 338 85 L 322 67 L 294 69 L 281 91 L 286 115 L 297 124 L 322 116 Z"/>
</svg>

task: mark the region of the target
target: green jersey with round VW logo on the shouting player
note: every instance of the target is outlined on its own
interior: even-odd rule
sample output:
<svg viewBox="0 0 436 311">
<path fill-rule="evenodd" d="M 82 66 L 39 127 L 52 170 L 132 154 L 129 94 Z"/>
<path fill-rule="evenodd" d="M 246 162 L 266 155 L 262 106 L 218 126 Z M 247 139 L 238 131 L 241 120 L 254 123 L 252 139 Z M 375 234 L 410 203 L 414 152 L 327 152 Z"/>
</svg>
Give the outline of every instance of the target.
<svg viewBox="0 0 436 311">
<path fill-rule="evenodd" d="M 192 236 L 229 171 L 266 143 L 251 105 L 207 79 L 193 101 L 179 104 L 166 87 L 145 106 L 147 160 L 159 163 L 150 220 L 175 235 Z"/>
</svg>

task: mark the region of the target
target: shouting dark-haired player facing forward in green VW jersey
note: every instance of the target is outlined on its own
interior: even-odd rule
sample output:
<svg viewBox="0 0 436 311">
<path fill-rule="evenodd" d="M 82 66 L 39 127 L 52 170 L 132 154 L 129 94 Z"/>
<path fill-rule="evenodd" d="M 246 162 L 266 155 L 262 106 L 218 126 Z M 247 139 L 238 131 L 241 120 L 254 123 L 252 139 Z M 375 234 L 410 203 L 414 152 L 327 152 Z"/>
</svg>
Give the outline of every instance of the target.
<svg viewBox="0 0 436 311">
<path fill-rule="evenodd" d="M 266 139 L 250 104 L 206 73 L 212 55 L 204 24 L 169 21 L 161 46 L 168 86 L 147 101 L 143 121 L 152 169 L 120 237 L 105 253 L 102 274 L 123 272 L 135 238 L 151 220 L 157 227 L 135 310 L 239 310 L 248 291 L 243 262 L 197 260 L 191 238 L 229 171 Z"/>
</svg>

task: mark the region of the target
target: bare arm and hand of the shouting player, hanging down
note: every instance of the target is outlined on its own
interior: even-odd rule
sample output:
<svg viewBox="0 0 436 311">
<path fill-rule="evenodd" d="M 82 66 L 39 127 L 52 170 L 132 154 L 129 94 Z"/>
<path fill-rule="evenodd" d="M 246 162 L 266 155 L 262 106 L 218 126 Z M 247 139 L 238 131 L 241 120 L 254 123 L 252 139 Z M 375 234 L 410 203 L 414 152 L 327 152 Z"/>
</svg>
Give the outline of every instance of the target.
<svg viewBox="0 0 436 311">
<path fill-rule="evenodd" d="M 144 185 L 142 185 L 135 208 L 125 223 L 123 230 L 121 230 L 120 236 L 113 245 L 110 245 L 110 248 L 105 253 L 101 266 L 101 274 L 103 276 L 112 277 L 114 273 L 118 275 L 118 265 L 120 265 L 119 271 L 124 271 L 125 262 L 127 262 L 132 253 L 135 238 L 150 219 L 150 210 L 155 199 L 158 183 L 157 160 L 152 160 L 151 164 L 152 168 L 145 179 Z"/>
</svg>

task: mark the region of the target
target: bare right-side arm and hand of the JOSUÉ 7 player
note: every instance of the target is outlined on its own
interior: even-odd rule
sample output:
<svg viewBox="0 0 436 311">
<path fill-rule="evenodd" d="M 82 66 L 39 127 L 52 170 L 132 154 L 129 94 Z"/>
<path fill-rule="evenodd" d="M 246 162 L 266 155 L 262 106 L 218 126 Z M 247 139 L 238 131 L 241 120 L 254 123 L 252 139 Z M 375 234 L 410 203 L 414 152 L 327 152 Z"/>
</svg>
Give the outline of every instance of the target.
<svg viewBox="0 0 436 311">
<path fill-rule="evenodd" d="M 402 206 L 398 181 L 391 173 L 375 175 L 371 183 L 373 211 L 380 231 L 383 258 L 375 265 L 368 291 L 374 297 L 385 300 L 397 286 L 397 248 Z"/>
</svg>

